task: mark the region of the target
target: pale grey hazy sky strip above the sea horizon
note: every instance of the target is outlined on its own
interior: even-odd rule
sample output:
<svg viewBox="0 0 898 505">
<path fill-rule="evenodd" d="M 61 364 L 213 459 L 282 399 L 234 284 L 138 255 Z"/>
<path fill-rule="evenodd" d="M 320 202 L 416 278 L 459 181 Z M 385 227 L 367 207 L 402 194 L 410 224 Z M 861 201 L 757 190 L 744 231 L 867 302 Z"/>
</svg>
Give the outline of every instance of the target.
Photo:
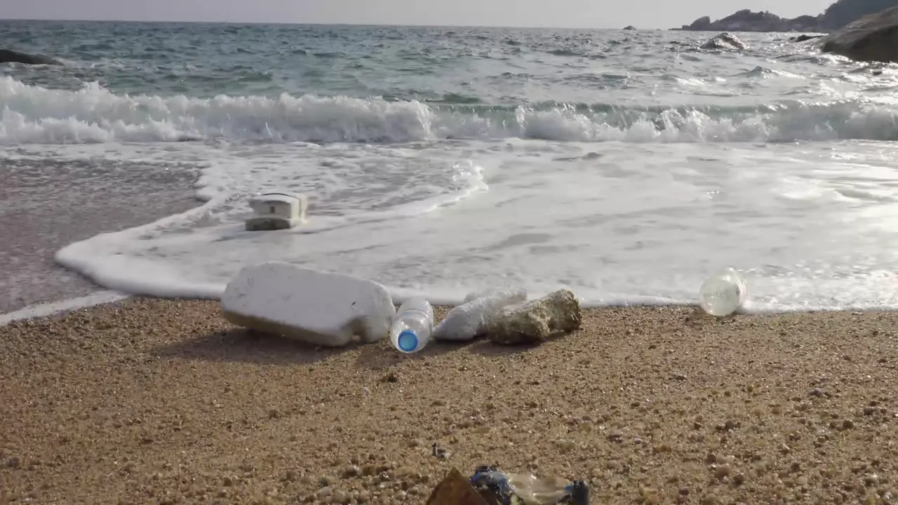
<svg viewBox="0 0 898 505">
<path fill-rule="evenodd" d="M 0 19 L 674 28 L 740 9 L 818 14 L 832 0 L 0 0 Z M 613 5 L 613 6 L 612 6 Z"/>
</svg>

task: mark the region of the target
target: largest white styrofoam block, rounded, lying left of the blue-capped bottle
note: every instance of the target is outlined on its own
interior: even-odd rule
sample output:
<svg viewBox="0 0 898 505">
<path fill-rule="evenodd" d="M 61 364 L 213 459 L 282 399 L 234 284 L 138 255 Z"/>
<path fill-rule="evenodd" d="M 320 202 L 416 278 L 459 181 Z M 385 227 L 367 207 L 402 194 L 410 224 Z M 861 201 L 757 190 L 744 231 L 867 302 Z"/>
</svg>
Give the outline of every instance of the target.
<svg viewBox="0 0 898 505">
<path fill-rule="evenodd" d="M 342 347 L 387 336 L 396 314 L 382 285 L 281 261 L 245 267 L 221 298 L 230 323 L 313 345 Z"/>
</svg>

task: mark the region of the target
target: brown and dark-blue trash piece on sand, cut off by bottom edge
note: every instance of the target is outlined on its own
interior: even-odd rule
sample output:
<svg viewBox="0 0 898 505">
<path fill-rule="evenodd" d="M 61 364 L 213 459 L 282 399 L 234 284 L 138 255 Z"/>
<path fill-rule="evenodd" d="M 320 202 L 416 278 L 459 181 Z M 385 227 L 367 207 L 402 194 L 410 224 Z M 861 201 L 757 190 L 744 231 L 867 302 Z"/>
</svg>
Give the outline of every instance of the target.
<svg viewBox="0 0 898 505">
<path fill-rule="evenodd" d="M 473 492 L 473 493 L 472 493 Z M 453 469 L 436 486 L 427 505 L 588 505 L 589 486 L 560 477 L 506 474 L 479 466 L 470 479 Z"/>
</svg>

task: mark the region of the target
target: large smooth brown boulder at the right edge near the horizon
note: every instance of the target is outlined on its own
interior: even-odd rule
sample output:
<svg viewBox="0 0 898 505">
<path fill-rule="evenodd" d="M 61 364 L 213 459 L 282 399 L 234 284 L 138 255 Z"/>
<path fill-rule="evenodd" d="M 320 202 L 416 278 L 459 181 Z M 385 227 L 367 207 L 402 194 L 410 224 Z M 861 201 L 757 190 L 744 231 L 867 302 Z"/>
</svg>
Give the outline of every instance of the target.
<svg viewBox="0 0 898 505">
<path fill-rule="evenodd" d="M 864 16 L 826 36 L 821 49 L 856 61 L 898 62 L 898 7 Z"/>
</svg>

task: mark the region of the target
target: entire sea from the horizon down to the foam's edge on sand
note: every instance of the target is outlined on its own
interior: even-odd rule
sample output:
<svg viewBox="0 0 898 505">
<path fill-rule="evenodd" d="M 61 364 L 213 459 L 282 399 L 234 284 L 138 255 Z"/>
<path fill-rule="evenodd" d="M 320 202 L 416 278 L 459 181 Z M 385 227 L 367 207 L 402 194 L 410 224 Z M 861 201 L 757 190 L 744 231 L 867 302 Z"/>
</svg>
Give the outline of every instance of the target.
<svg viewBox="0 0 898 505">
<path fill-rule="evenodd" d="M 711 35 L 4 22 L 66 66 L 0 66 L 0 176 L 86 173 L 47 196 L 72 206 L 191 181 L 197 208 L 56 253 L 132 293 L 214 298 L 280 260 L 397 300 L 691 303 L 733 266 L 749 311 L 898 307 L 898 66 Z M 307 222 L 243 231 L 272 189 Z"/>
</svg>

